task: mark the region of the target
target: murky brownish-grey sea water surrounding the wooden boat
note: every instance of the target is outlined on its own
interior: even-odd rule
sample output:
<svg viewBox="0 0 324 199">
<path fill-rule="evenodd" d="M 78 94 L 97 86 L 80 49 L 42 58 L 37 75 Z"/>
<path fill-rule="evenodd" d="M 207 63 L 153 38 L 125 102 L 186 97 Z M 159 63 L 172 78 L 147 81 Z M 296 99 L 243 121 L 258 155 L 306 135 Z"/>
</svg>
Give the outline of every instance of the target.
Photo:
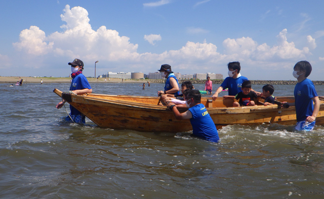
<svg viewBox="0 0 324 199">
<path fill-rule="evenodd" d="M 164 87 L 139 85 L 92 87 L 147 96 Z M 276 96 L 293 95 L 294 85 L 274 87 Z M 220 143 L 190 132 L 104 129 L 88 119 L 66 123 L 54 88 L 67 91 L 69 84 L 0 84 L 0 198 L 324 197 L 322 126 L 305 133 L 276 124 L 231 125 L 218 129 Z M 324 95 L 324 86 L 315 88 Z"/>
</svg>

